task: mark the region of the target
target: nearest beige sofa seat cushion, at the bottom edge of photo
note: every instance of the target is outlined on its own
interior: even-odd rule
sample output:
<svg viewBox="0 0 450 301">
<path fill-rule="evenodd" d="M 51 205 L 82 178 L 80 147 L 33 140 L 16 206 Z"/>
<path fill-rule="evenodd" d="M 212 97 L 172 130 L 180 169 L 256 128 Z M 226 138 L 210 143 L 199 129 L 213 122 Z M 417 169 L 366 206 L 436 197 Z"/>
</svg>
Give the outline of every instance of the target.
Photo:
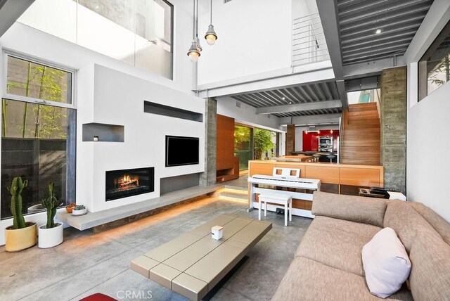
<svg viewBox="0 0 450 301">
<path fill-rule="evenodd" d="M 305 257 L 295 257 L 272 300 L 380 300 L 372 295 L 364 277 L 328 267 Z M 386 300 L 413 300 L 402 288 Z"/>
</svg>

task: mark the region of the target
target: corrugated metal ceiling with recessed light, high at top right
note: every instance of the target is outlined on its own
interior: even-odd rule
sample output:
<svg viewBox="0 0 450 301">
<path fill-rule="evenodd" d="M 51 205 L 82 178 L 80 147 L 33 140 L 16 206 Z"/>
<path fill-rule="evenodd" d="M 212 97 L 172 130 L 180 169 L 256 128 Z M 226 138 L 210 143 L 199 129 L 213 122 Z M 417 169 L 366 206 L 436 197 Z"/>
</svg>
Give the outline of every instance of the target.
<svg viewBox="0 0 450 301">
<path fill-rule="evenodd" d="M 402 56 L 433 0 L 337 0 L 342 65 Z M 377 30 L 381 32 L 375 33 Z"/>
</svg>

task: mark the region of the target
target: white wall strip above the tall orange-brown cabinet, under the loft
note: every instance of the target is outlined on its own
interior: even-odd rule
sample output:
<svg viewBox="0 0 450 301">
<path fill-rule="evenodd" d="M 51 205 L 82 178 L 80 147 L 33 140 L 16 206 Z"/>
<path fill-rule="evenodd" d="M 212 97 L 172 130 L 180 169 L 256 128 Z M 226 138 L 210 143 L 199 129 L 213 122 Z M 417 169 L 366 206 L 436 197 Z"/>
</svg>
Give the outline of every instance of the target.
<svg viewBox="0 0 450 301">
<path fill-rule="evenodd" d="M 240 103 L 240 108 L 236 106 L 236 103 Z M 282 132 L 278 117 L 274 115 L 256 115 L 256 108 L 228 96 L 217 98 L 217 114 L 233 117 L 235 122 L 248 124 L 252 127 Z"/>
</svg>

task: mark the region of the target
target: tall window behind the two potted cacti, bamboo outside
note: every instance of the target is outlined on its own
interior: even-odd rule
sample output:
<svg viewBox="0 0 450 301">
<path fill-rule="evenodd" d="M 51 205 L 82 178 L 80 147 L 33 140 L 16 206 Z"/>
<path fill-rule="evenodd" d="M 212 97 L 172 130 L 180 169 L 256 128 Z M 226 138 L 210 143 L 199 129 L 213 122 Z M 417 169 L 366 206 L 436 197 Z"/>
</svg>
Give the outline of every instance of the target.
<svg viewBox="0 0 450 301">
<path fill-rule="evenodd" d="M 75 200 L 73 72 L 6 55 L 6 91 L 1 100 L 1 219 L 11 217 L 7 187 L 28 181 L 23 213 L 42 210 L 48 186 L 59 200 Z"/>
</svg>

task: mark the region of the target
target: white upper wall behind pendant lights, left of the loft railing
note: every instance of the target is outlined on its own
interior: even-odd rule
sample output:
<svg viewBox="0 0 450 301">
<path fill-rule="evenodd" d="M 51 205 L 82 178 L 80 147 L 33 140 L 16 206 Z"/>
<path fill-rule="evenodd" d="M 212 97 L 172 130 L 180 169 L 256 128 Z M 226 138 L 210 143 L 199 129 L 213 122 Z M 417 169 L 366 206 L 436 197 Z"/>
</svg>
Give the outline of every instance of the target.
<svg viewBox="0 0 450 301">
<path fill-rule="evenodd" d="M 200 15 L 203 51 L 198 84 L 290 67 L 291 0 L 212 1 L 212 23 L 218 39 L 207 45 L 203 36 L 210 14 Z"/>
</svg>

